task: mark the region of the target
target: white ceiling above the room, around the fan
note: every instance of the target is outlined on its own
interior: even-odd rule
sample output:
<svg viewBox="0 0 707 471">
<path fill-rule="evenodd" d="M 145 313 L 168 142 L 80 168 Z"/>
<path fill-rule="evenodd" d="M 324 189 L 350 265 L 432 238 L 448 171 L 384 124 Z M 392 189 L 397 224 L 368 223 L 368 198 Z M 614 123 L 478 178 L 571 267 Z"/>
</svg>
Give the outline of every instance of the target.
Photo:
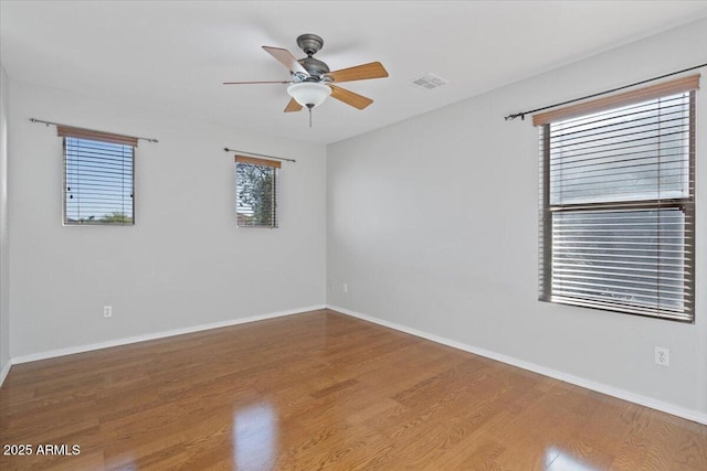
<svg viewBox="0 0 707 471">
<path fill-rule="evenodd" d="M 0 17 L 11 78 L 328 143 L 707 17 L 707 1 L 2 0 Z M 374 103 L 329 98 L 310 129 L 283 113 L 286 85 L 221 85 L 289 79 L 261 45 L 302 57 L 302 33 L 331 69 L 382 62 L 390 77 L 344 84 Z M 426 72 L 450 84 L 407 85 Z"/>
</svg>

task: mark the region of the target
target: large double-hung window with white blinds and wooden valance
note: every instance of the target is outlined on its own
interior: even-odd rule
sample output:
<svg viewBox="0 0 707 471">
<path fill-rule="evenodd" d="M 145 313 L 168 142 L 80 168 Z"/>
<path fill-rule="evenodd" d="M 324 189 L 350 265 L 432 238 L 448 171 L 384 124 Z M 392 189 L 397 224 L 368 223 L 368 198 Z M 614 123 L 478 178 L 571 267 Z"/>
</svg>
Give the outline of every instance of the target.
<svg viewBox="0 0 707 471">
<path fill-rule="evenodd" d="M 540 300 L 694 321 L 698 79 L 534 117 Z"/>
</svg>

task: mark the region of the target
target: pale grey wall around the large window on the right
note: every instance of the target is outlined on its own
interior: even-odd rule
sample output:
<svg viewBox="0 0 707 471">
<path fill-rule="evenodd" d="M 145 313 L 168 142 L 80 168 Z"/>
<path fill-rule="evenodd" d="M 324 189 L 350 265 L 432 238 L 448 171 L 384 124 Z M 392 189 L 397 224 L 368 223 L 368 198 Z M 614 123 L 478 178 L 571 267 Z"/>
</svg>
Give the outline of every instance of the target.
<svg viewBox="0 0 707 471">
<path fill-rule="evenodd" d="M 538 133 L 530 119 L 503 117 L 706 58 L 701 20 L 329 146 L 328 304 L 704 420 L 707 68 L 697 93 L 695 324 L 537 301 Z M 671 349 L 671 367 L 654 364 L 656 345 Z"/>
</svg>

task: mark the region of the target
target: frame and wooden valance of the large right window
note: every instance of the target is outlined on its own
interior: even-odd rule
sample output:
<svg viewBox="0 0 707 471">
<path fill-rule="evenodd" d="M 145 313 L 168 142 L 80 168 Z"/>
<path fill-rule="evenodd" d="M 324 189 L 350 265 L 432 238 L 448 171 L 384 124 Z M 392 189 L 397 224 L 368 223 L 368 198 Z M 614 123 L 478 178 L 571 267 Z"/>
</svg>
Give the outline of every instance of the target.
<svg viewBox="0 0 707 471">
<path fill-rule="evenodd" d="M 540 131 L 540 207 L 538 240 L 538 299 L 540 301 L 601 309 L 656 319 L 667 319 L 687 323 L 695 322 L 695 90 L 698 88 L 698 81 L 699 75 L 683 77 L 668 83 L 646 87 L 644 89 L 633 90 L 616 96 L 610 96 L 599 100 L 562 108 L 559 110 L 547 111 L 545 114 L 534 116 L 534 125 L 538 126 Z M 643 101 L 648 101 L 651 99 L 663 98 L 678 94 L 688 94 L 687 110 L 689 129 L 687 131 L 687 136 L 689 142 L 687 146 L 687 169 L 689 183 L 687 184 L 688 192 L 686 196 L 661 199 L 658 195 L 656 200 L 651 201 L 647 199 L 643 199 L 639 201 L 615 202 L 609 199 L 605 201 L 583 202 L 577 204 L 551 203 L 550 191 L 552 180 L 550 174 L 550 154 L 552 151 L 552 147 L 550 143 L 550 127 L 552 124 L 572 118 L 581 118 L 594 113 L 611 111 L 612 109 L 622 108 L 627 105 L 640 104 Z M 641 208 L 655 210 L 657 212 L 669 208 L 679 208 L 684 214 L 685 226 L 683 226 L 683 231 L 680 234 L 684 242 L 683 266 L 686 267 L 684 268 L 685 275 L 680 291 L 683 296 L 683 309 L 680 311 L 672 312 L 669 309 L 663 308 L 657 303 L 653 309 L 651 309 L 643 308 L 637 303 L 631 303 L 630 301 L 610 302 L 606 299 L 582 299 L 580 296 L 576 298 L 555 296 L 552 292 L 552 264 L 555 245 L 553 216 L 556 214 L 569 214 L 585 211 L 639 211 Z M 689 226 L 687 226 L 688 221 Z M 655 223 L 656 231 L 662 227 L 662 225 Z M 656 274 L 659 274 L 659 268 L 656 268 Z M 605 286 L 608 288 L 611 287 L 610 285 Z M 658 291 L 656 290 L 656 292 Z"/>
</svg>

